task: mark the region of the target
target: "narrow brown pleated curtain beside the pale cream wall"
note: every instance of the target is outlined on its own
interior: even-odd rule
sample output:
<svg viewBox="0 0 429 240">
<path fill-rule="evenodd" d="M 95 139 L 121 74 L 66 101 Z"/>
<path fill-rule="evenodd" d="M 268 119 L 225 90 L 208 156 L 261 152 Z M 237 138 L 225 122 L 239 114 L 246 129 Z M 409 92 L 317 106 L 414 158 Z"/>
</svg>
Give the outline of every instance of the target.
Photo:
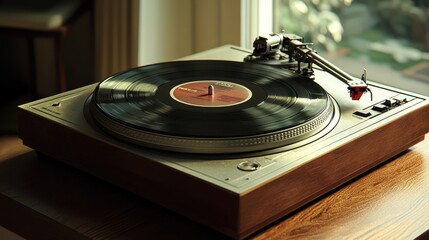
<svg viewBox="0 0 429 240">
<path fill-rule="evenodd" d="M 137 66 L 139 0 L 95 0 L 95 81 Z"/>
</svg>

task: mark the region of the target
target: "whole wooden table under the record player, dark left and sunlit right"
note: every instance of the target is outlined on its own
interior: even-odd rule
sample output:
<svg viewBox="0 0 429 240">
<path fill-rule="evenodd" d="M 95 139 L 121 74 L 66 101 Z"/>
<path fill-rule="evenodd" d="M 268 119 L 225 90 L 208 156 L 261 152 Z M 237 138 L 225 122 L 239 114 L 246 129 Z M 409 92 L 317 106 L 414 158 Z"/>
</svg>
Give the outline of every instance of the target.
<svg viewBox="0 0 429 240">
<path fill-rule="evenodd" d="M 0 225 L 25 238 L 226 238 L 16 141 L 11 152 L 0 137 Z M 414 239 L 428 229 L 426 139 L 251 239 Z"/>
</svg>

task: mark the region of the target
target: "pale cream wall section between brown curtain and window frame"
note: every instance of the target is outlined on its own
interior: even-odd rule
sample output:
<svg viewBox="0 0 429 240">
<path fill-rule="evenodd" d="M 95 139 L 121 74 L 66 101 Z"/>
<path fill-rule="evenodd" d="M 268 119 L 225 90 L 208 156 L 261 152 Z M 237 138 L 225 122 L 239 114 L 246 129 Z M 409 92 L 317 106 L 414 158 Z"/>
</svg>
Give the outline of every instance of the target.
<svg viewBox="0 0 429 240">
<path fill-rule="evenodd" d="M 141 0 L 139 65 L 240 44 L 240 0 Z"/>
</svg>

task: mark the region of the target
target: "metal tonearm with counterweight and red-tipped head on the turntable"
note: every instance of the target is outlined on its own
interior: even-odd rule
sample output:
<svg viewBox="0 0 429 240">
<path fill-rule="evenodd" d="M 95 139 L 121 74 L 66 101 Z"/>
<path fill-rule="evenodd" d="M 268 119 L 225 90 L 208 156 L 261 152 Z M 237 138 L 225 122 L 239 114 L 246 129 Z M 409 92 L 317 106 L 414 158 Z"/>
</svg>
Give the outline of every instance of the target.
<svg viewBox="0 0 429 240">
<path fill-rule="evenodd" d="M 366 84 L 365 69 L 361 79 L 354 78 L 318 55 L 315 50 L 309 47 L 310 45 L 312 43 L 303 43 L 303 38 L 295 34 L 259 36 L 253 42 L 252 55 L 246 57 L 245 61 L 258 61 L 260 63 L 264 62 L 264 60 L 283 62 L 285 64 L 280 64 L 280 66 L 309 78 L 314 78 L 312 67 L 314 63 L 347 84 L 350 97 L 353 100 L 359 100 L 364 92 L 370 92 Z M 285 59 L 287 59 L 286 62 Z M 306 63 L 307 66 L 302 67 L 301 63 Z"/>
</svg>

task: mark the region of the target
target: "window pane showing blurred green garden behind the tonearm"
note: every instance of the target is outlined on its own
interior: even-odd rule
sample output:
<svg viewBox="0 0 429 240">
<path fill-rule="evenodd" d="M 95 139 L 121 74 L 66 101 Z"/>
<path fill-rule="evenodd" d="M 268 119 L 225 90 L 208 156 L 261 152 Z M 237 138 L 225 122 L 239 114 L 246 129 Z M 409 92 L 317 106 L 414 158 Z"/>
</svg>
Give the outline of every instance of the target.
<svg viewBox="0 0 429 240">
<path fill-rule="evenodd" d="M 295 33 L 354 76 L 429 94 L 429 2 L 274 0 L 274 32 Z"/>
</svg>

